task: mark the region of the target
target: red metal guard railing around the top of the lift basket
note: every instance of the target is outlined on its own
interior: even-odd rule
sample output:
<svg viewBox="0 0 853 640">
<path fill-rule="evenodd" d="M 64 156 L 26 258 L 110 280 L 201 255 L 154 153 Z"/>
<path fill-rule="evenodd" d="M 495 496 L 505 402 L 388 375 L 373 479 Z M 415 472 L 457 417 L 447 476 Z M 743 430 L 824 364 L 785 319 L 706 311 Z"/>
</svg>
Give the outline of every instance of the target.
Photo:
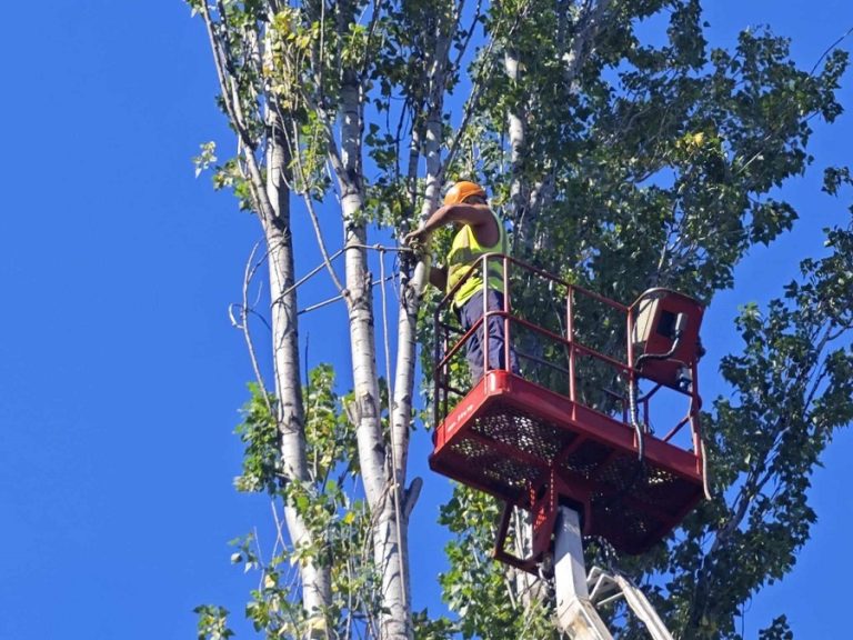
<svg viewBox="0 0 853 640">
<path fill-rule="evenodd" d="M 485 289 L 489 287 L 489 266 L 502 267 L 503 291 L 501 309 L 486 308 Z M 462 331 L 456 310 L 455 292 L 469 279 L 479 277 L 483 288 L 482 317 L 468 331 Z M 521 290 L 519 290 L 521 289 Z M 539 296 L 539 298 L 536 298 Z M 670 442 L 686 426 L 691 426 L 691 441 L 683 447 L 699 451 L 699 409 L 701 400 L 696 389 L 693 363 L 692 384 L 685 389 L 664 388 L 651 383 L 640 389 L 642 372 L 635 367 L 636 349 L 632 340 L 634 308 L 610 300 L 572 282 L 500 253 L 482 256 L 472 262 L 456 286 L 446 292 L 434 312 L 434 371 L 433 419 L 440 424 L 459 400 L 473 389 L 479 380 L 470 380 L 465 362 L 465 346 L 479 334 L 482 346 L 483 371 L 498 369 L 490 362 L 488 323 L 498 317 L 503 324 L 503 362 L 513 361 L 519 370 L 513 374 L 549 389 L 572 402 L 616 418 L 629 424 L 640 420 L 649 431 L 652 424 L 653 401 L 666 396 L 661 404 L 672 403 L 672 393 L 688 399 L 688 411 L 671 417 L 672 408 L 663 410 L 664 420 L 674 427 L 659 438 Z M 635 414 L 629 407 L 629 386 L 640 390 Z"/>
</svg>

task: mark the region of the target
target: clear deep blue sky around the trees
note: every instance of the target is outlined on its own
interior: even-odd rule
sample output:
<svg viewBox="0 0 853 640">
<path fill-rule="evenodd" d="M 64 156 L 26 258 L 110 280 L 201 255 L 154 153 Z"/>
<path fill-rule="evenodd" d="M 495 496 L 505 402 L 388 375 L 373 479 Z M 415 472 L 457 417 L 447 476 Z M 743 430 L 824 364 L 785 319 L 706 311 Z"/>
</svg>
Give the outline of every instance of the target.
<svg viewBox="0 0 853 640">
<path fill-rule="evenodd" d="M 846 0 L 706 4 L 713 43 L 771 23 L 807 68 L 853 27 Z M 229 564 L 227 541 L 264 526 L 269 506 L 231 487 L 251 369 L 227 307 L 258 229 L 193 177 L 199 143 L 230 139 L 202 24 L 179 0 L 38 7 L 7 7 L 0 39 L 0 638 L 193 638 L 202 602 L 227 606 L 250 636 L 240 619 L 254 578 Z M 776 294 L 797 259 L 820 250 L 820 229 L 844 220 L 850 198 L 817 188 L 823 166 L 849 161 L 850 140 L 850 114 L 819 128 L 817 170 L 785 188 L 803 219 L 755 251 L 706 316 L 717 356 L 736 346 L 737 304 Z M 307 252 L 300 272 L 317 262 Z M 342 336 L 328 328 L 340 312 L 303 329 L 310 363 L 339 361 Z M 752 603 L 747 637 L 780 611 L 797 639 L 843 637 L 851 456 L 844 431 L 815 476 L 813 539 Z M 430 489 L 413 529 L 430 528 L 446 483 L 426 470 L 424 447 L 412 466 Z M 414 547 L 423 607 L 438 593 L 441 540 Z"/>
</svg>

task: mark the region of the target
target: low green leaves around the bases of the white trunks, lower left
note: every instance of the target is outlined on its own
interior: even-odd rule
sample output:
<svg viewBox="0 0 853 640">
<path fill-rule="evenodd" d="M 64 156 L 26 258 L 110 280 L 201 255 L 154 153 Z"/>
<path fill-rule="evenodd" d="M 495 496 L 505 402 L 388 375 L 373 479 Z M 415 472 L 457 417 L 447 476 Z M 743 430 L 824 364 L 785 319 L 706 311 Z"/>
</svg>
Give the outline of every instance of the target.
<svg viewBox="0 0 853 640">
<path fill-rule="evenodd" d="M 251 592 L 251 601 L 245 607 L 245 616 L 257 630 L 301 638 L 307 630 L 320 632 L 322 629 L 322 637 L 328 631 L 348 638 L 371 632 L 377 624 L 379 593 L 367 544 L 371 517 L 364 500 L 358 498 L 354 432 L 334 391 L 332 367 L 320 364 L 309 372 L 308 379 L 304 398 L 310 480 L 282 482 L 275 399 L 264 398 L 259 387 L 251 383 L 243 421 L 237 428 L 245 451 L 243 473 L 237 478 L 235 486 L 241 491 L 265 491 L 273 508 L 282 502 L 295 507 L 313 532 L 311 542 L 285 543 L 283 522 L 277 518 L 277 542 L 271 552 L 264 552 L 255 536 L 250 534 L 232 542 L 237 550 L 231 561 L 245 571 L 259 573 L 259 587 Z M 332 602 L 322 612 L 322 620 L 308 617 L 299 599 L 294 569 L 308 560 L 332 569 Z M 198 612 L 200 629 L 203 617 L 204 629 L 213 640 L 212 630 L 220 624 L 218 620 L 224 624 L 223 610 L 200 608 Z"/>
</svg>

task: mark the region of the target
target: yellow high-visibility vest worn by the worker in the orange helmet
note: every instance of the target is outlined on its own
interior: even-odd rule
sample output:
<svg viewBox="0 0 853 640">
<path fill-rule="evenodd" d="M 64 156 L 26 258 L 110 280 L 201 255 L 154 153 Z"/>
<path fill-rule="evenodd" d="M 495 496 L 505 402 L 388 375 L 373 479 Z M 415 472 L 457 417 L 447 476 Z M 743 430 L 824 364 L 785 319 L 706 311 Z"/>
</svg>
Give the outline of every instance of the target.
<svg viewBox="0 0 853 640">
<path fill-rule="evenodd" d="M 509 242 L 506 241 L 506 231 L 498 214 L 492 211 L 494 221 L 498 224 L 498 242 L 492 247 L 482 247 L 474 237 L 474 231 L 465 224 L 453 237 L 453 243 L 448 253 L 448 290 L 449 293 L 456 283 L 462 280 L 469 271 L 471 276 L 453 294 L 453 304 L 456 308 L 462 307 L 471 296 L 483 288 L 483 269 L 478 258 L 484 253 L 509 253 Z M 473 267 L 472 267 L 473 264 Z M 503 292 L 503 261 L 489 260 L 489 288 Z"/>
</svg>

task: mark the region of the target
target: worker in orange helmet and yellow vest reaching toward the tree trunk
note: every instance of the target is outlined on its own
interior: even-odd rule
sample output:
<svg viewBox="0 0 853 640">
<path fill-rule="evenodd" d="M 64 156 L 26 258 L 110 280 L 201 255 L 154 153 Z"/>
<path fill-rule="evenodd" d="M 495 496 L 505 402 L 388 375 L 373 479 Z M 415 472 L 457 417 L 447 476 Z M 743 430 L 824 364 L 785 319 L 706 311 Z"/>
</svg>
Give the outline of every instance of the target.
<svg viewBox="0 0 853 640">
<path fill-rule="evenodd" d="M 506 231 L 498 214 L 489 208 L 485 191 L 474 182 L 461 180 L 448 191 L 444 206 L 436 209 L 420 229 L 408 233 L 403 243 L 426 247 L 432 232 L 448 224 L 453 224 L 456 233 L 446 266 L 430 269 L 430 283 L 446 293 L 455 289 L 453 309 L 462 329 L 469 331 L 483 317 L 483 294 L 489 311 L 503 311 L 503 262 L 489 260 L 488 286 L 483 287 L 482 261 L 478 259 L 485 253 L 509 253 Z M 460 286 L 456 288 L 456 284 Z M 508 369 L 503 317 L 489 316 L 486 324 L 489 369 Z M 465 357 L 474 382 L 483 377 L 482 336 L 476 331 L 465 342 Z M 509 370 L 518 372 L 518 369 L 515 352 L 510 349 Z"/>
</svg>

